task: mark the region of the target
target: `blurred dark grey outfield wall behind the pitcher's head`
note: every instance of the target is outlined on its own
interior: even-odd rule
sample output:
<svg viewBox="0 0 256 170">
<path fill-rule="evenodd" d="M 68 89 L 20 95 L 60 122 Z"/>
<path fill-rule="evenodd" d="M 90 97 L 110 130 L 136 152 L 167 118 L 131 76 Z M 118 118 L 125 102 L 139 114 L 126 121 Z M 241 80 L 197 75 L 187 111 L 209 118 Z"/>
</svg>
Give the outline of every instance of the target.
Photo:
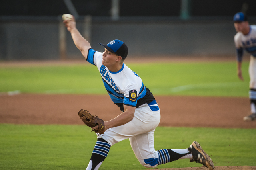
<svg viewBox="0 0 256 170">
<path fill-rule="evenodd" d="M 3 19 L 0 25 L 0 60 L 60 59 L 59 20 Z M 62 22 L 62 21 L 61 21 Z M 77 20 L 84 35 L 84 20 Z M 66 31 L 66 58 L 82 58 Z M 92 18 L 92 48 L 112 39 L 124 41 L 128 55 L 234 55 L 232 18 L 179 20 L 177 18 Z"/>
</svg>

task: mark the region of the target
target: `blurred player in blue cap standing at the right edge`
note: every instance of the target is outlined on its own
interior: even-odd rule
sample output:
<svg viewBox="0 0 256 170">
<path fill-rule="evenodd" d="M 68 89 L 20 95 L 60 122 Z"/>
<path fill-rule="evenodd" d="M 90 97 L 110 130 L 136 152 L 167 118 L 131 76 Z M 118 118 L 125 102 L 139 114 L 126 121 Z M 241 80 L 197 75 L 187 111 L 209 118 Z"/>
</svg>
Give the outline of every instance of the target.
<svg viewBox="0 0 256 170">
<path fill-rule="evenodd" d="M 244 121 L 252 121 L 256 119 L 256 25 L 249 25 L 247 16 L 238 12 L 233 18 L 236 35 L 234 43 L 237 54 L 237 75 L 240 80 L 244 80 L 242 76 L 242 56 L 244 49 L 250 53 L 249 75 L 250 75 L 250 112 L 251 115 L 245 116 Z"/>
</svg>

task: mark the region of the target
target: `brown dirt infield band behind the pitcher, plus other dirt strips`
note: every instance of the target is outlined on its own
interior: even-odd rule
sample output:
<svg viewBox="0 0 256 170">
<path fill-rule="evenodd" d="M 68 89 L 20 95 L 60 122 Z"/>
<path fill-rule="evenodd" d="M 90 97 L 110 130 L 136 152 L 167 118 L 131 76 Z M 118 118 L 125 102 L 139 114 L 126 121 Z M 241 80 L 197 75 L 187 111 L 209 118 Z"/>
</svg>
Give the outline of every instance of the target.
<svg viewBox="0 0 256 170">
<path fill-rule="evenodd" d="M 231 61 L 231 59 L 234 60 L 234 58 L 225 58 L 220 59 L 220 61 Z M 196 59 L 192 60 L 190 58 L 169 59 L 169 61 L 174 62 L 181 60 L 186 62 L 196 61 Z M 148 60 L 148 62 L 150 61 Z M 157 61 L 163 60 L 157 59 Z M 198 58 L 198 61 L 213 60 Z M 85 62 L 80 60 L 72 62 L 72 64 L 77 63 Z M 70 64 L 70 62 L 2 62 L 0 66 L 27 66 L 31 64 L 55 65 Z M 155 98 L 161 110 L 160 126 L 256 128 L 256 121 L 245 122 L 242 120 L 250 111 L 248 98 L 195 96 L 155 96 Z M 105 121 L 121 113 L 108 95 L 8 95 L 7 93 L 0 93 L 0 123 L 84 125 L 77 116 L 80 109 L 87 109 Z M 206 169 L 208 168 L 199 166 L 158 170 Z M 216 167 L 215 170 L 256 170 L 256 166 Z"/>
</svg>

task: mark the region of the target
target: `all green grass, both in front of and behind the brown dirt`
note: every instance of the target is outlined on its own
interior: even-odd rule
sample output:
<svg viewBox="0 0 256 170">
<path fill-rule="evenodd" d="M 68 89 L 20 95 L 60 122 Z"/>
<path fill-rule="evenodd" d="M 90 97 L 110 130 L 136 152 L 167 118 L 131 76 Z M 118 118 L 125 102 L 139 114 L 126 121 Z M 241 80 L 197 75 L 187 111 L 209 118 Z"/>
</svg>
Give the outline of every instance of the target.
<svg viewBox="0 0 256 170">
<path fill-rule="evenodd" d="M 156 95 L 248 96 L 248 62 L 244 82 L 236 76 L 236 63 L 127 64 Z M 0 68 L 0 93 L 106 94 L 95 66 L 34 66 Z M 187 148 L 197 140 L 215 166 L 256 166 L 256 129 L 157 127 L 155 149 Z M 79 125 L 0 124 L 0 169 L 85 169 L 96 134 Z M 201 166 L 178 160 L 158 168 Z M 101 170 L 144 168 L 125 140 L 111 147 Z"/>
</svg>

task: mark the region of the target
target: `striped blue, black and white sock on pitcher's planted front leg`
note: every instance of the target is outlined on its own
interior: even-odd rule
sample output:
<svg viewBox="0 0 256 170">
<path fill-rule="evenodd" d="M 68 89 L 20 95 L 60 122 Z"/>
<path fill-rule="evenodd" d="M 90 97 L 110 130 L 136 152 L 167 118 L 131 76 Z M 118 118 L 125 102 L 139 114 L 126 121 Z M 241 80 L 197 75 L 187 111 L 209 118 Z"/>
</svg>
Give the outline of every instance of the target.
<svg viewBox="0 0 256 170">
<path fill-rule="evenodd" d="M 92 151 L 92 156 L 86 170 L 98 170 L 108 156 L 110 144 L 102 138 L 98 138 Z"/>
</svg>

